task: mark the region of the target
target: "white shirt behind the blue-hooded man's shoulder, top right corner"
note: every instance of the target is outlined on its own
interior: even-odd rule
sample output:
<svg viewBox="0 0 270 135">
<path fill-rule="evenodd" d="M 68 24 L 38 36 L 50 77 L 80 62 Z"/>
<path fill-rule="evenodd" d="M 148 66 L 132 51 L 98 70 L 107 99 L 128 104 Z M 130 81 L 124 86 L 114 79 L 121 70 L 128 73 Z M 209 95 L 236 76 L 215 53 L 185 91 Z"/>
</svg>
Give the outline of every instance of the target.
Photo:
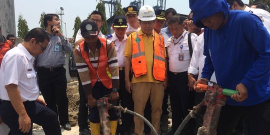
<svg viewBox="0 0 270 135">
<path fill-rule="evenodd" d="M 270 33 L 270 13 L 268 11 L 260 8 L 250 8 L 248 6 L 245 6 L 244 11 L 256 14 L 261 19 L 267 31 Z"/>
</svg>

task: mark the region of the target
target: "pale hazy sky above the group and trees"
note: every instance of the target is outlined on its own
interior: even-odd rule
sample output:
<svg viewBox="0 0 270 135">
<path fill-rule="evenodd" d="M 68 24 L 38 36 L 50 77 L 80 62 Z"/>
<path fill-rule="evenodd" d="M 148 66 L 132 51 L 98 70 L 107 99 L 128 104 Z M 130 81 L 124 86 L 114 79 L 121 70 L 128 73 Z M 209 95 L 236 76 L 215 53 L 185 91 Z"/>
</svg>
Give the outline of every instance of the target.
<svg viewBox="0 0 270 135">
<path fill-rule="evenodd" d="M 98 1 L 98 0 L 97 0 Z M 57 13 L 60 7 L 63 7 L 64 15 L 61 20 L 66 23 L 66 36 L 72 37 L 73 26 L 76 16 L 79 16 L 81 21 L 86 19 L 88 14 L 95 9 L 96 0 L 14 0 L 15 6 L 15 21 L 17 32 L 18 15 L 22 14 L 27 21 L 28 28 L 32 29 L 40 27 L 40 14 Z M 108 0 L 107 0 L 108 1 Z M 122 7 L 126 7 L 134 0 L 121 0 Z M 248 3 L 249 0 L 242 0 Z M 155 6 L 157 0 L 144 0 L 144 5 Z M 105 4 L 106 17 L 109 18 L 108 4 Z M 172 7 L 177 13 L 188 14 L 190 12 L 188 0 L 166 0 L 165 8 Z M 65 35 L 65 24 L 63 23 L 63 34 Z M 16 33 L 17 34 L 17 33 Z"/>
</svg>

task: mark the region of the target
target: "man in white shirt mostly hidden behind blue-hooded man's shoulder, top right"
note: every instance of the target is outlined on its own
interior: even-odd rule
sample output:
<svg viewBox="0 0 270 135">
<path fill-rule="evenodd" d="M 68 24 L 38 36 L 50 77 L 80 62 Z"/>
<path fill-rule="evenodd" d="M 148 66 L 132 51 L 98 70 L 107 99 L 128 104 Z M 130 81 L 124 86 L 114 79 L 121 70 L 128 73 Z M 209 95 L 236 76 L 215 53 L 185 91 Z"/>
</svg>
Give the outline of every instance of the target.
<svg viewBox="0 0 270 135">
<path fill-rule="evenodd" d="M 266 27 L 267 31 L 270 31 L 270 13 L 260 8 L 250 8 L 242 2 L 242 0 L 226 0 L 232 10 L 244 10 L 250 13 L 256 14 Z"/>
</svg>

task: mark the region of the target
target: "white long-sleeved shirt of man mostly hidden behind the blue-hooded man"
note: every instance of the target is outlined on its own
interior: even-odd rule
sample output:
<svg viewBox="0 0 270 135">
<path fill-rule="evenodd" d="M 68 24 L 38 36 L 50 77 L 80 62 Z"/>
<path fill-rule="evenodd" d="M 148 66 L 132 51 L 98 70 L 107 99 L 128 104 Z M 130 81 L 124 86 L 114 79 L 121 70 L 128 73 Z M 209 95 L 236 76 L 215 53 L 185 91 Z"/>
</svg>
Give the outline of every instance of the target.
<svg viewBox="0 0 270 135">
<path fill-rule="evenodd" d="M 197 41 L 193 48 L 193 54 L 192 54 L 188 71 L 187 71 L 194 75 L 198 74 L 198 78 L 201 78 L 201 71 L 204 66 L 204 58 L 206 57 L 203 55 L 203 44 L 204 44 L 204 38 L 203 38 L 203 33 L 201 33 L 197 37 Z M 216 82 L 214 73 L 212 74 L 210 80 Z"/>
</svg>

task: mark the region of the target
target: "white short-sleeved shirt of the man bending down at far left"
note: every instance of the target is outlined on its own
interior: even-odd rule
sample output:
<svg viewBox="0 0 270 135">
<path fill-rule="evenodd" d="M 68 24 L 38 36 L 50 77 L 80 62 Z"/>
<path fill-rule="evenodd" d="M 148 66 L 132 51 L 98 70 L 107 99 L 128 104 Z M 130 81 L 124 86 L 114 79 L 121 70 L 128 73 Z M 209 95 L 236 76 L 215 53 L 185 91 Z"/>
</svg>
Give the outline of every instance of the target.
<svg viewBox="0 0 270 135">
<path fill-rule="evenodd" d="M 33 101 L 39 95 L 36 73 L 33 67 L 34 57 L 22 46 L 7 51 L 0 67 L 0 98 L 10 100 L 5 85 L 16 84 L 22 101 Z"/>
</svg>

